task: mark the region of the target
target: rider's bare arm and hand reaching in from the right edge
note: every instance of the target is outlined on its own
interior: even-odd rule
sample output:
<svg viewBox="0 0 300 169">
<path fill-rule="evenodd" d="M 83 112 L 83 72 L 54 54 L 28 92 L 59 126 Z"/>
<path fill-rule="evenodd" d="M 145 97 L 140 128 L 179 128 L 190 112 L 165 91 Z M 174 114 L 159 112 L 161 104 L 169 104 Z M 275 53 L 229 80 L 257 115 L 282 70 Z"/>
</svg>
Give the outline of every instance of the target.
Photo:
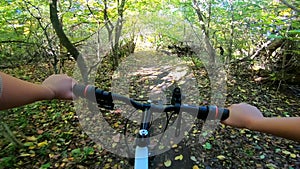
<svg viewBox="0 0 300 169">
<path fill-rule="evenodd" d="M 229 107 L 230 116 L 224 124 L 248 128 L 300 142 L 300 117 L 264 117 L 254 106 L 246 103 Z"/>
</svg>

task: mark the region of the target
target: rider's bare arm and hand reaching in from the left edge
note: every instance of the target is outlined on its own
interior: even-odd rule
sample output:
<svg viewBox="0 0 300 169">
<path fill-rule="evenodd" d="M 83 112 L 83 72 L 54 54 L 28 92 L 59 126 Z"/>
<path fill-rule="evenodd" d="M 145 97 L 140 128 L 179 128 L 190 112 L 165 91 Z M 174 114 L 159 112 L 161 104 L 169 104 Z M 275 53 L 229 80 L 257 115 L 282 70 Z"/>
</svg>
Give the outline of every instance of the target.
<svg viewBox="0 0 300 169">
<path fill-rule="evenodd" d="M 66 75 L 52 75 L 42 84 L 33 84 L 0 72 L 2 94 L 0 110 L 39 100 L 72 99 L 74 80 Z"/>
</svg>

